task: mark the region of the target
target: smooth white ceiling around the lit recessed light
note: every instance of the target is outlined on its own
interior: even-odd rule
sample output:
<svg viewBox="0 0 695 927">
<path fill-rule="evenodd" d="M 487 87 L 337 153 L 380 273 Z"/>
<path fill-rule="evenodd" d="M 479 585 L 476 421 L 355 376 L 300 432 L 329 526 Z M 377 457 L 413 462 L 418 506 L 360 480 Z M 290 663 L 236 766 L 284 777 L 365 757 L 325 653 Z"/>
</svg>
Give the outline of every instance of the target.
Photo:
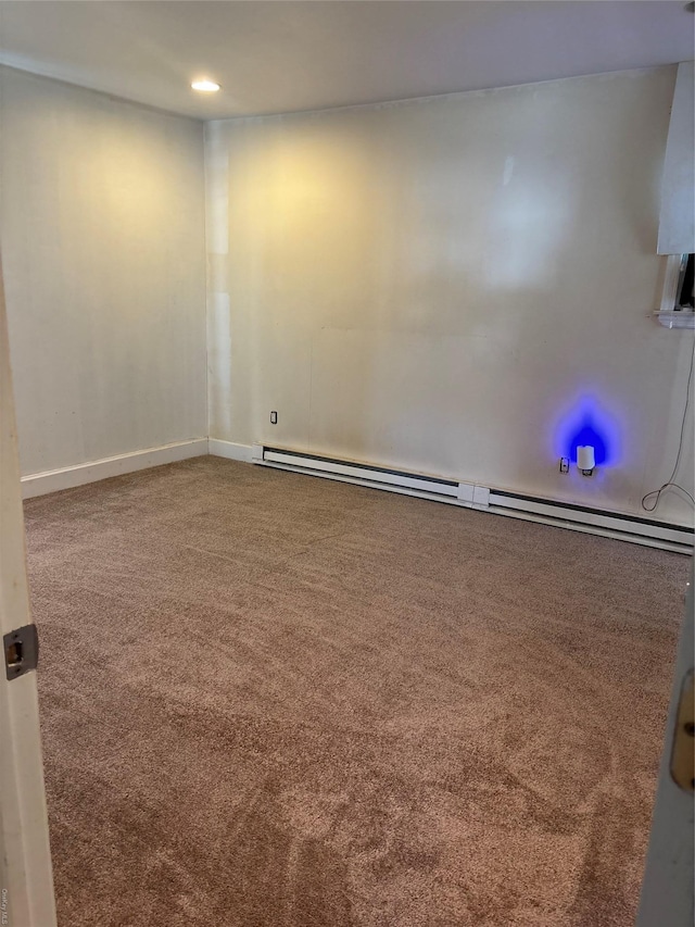
<svg viewBox="0 0 695 927">
<path fill-rule="evenodd" d="M 683 61 L 679 0 L 1 0 L 0 62 L 198 118 Z M 211 97 L 194 77 L 223 85 Z"/>
</svg>

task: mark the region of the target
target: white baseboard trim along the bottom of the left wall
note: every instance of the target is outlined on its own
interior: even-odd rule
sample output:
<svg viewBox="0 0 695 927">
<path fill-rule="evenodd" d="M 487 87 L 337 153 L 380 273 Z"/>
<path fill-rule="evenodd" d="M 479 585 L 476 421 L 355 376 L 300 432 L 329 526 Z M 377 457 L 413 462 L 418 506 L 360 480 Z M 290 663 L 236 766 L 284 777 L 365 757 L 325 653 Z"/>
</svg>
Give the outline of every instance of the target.
<svg viewBox="0 0 695 927">
<path fill-rule="evenodd" d="M 111 476 L 122 476 L 124 473 L 135 473 L 151 466 L 203 456 L 206 453 L 207 438 L 197 438 L 193 441 L 178 441 L 174 444 L 117 454 L 115 458 L 104 458 L 100 461 L 65 466 L 47 473 L 31 473 L 22 477 L 22 497 L 33 499 L 35 496 L 46 496 L 48 492 L 58 492 L 60 489 L 73 489 Z"/>
</svg>

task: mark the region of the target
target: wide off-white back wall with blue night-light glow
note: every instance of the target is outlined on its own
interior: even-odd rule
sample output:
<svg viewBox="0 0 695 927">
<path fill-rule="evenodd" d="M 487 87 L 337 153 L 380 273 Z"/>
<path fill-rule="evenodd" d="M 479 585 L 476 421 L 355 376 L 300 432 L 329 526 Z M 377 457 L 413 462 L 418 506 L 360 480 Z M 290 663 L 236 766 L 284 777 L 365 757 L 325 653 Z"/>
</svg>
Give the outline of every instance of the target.
<svg viewBox="0 0 695 927">
<path fill-rule="evenodd" d="M 649 317 L 674 73 L 207 124 L 211 437 L 642 514 L 693 351 Z"/>
</svg>

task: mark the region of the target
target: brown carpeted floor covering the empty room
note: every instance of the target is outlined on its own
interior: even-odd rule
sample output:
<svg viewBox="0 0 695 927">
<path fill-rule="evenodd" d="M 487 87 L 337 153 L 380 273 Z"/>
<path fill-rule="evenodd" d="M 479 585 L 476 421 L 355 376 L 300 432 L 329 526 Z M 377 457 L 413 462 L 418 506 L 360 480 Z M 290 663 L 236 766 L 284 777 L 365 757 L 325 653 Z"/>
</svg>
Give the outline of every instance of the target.
<svg viewBox="0 0 695 927">
<path fill-rule="evenodd" d="M 26 504 L 61 927 L 627 927 L 688 561 L 213 458 Z"/>
</svg>

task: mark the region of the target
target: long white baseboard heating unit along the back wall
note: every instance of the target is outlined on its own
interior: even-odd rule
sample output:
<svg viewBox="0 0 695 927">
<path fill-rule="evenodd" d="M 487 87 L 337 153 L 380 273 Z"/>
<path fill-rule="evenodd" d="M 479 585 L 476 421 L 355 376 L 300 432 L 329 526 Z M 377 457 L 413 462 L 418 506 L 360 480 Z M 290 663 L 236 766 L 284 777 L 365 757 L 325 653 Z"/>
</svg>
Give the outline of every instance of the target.
<svg viewBox="0 0 695 927">
<path fill-rule="evenodd" d="M 617 538 L 632 543 L 658 547 L 678 553 L 692 554 L 695 542 L 693 528 L 606 512 L 587 505 L 555 502 L 534 496 L 507 492 L 472 483 L 457 483 L 427 474 L 390 469 L 372 464 L 357 463 L 317 454 L 305 454 L 285 448 L 253 444 L 252 462 L 278 469 L 289 469 L 325 479 L 353 483 L 388 492 L 401 492 L 419 499 L 431 499 L 450 505 L 477 509 L 496 515 L 540 522 L 555 527 L 569 528 L 603 537 Z"/>
</svg>

